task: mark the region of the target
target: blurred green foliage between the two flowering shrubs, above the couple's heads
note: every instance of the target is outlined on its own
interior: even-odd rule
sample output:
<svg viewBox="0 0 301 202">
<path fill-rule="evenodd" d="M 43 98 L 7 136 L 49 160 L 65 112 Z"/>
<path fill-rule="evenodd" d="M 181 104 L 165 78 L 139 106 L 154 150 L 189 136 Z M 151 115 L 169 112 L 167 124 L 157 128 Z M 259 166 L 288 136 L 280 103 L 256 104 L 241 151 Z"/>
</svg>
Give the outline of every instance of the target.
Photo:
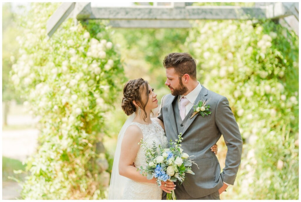
<svg viewBox="0 0 301 202">
<path fill-rule="evenodd" d="M 184 46 L 189 29 L 114 29 L 113 41 L 121 47 L 126 76 L 149 81 L 158 97 L 170 93 L 164 85 L 164 57 L 171 52 L 187 52 Z M 143 75 L 143 76 L 142 76 Z"/>
</svg>

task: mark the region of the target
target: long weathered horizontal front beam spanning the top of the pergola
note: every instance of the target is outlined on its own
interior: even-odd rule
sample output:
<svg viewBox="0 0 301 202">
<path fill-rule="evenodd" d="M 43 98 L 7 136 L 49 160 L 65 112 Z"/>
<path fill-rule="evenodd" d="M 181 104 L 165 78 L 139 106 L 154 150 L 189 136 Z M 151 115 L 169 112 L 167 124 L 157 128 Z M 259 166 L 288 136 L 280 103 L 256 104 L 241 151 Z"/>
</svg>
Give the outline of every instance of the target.
<svg viewBox="0 0 301 202">
<path fill-rule="evenodd" d="M 251 8 L 239 6 L 139 6 L 123 8 L 91 8 L 88 19 L 110 20 L 239 20 L 265 18 L 265 7 Z"/>
</svg>

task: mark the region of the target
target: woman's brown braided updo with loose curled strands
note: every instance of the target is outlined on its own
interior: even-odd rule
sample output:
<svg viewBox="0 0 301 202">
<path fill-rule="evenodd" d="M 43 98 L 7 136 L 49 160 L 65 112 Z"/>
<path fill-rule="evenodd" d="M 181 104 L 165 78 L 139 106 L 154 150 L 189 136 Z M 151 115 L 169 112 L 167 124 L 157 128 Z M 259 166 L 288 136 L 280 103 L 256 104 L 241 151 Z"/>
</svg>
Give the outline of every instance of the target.
<svg viewBox="0 0 301 202">
<path fill-rule="evenodd" d="M 142 100 L 143 93 L 146 95 L 146 100 Z M 145 106 L 148 102 L 148 82 L 142 78 L 128 81 L 123 87 L 123 98 L 121 107 L 126 115 L 131 115 L 137 111 L 133 101 L 144 111 L 143 120 L 147 118 Z"/>
</svg>

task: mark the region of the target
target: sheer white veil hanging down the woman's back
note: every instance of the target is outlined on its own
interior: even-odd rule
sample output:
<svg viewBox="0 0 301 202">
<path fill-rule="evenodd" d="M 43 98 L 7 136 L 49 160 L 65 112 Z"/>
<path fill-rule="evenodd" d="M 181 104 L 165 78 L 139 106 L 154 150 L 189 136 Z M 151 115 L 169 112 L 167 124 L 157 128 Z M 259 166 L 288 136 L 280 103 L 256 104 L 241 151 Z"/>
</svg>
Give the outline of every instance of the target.
<svg viewBox="0 0 301 202">
<path fill-rule="evenodd" d="M 112 174 L 110 179 L 110 188 L 109 188 L 109 200 L 120 200 L 123 196 L 123 190 L 125 187 L 126 177 L 119 175 L 119 158 L 120 158 L 120 151 L 121 151 L 121 142 L 124 136 L 124 133 L 126 129 L 129 127 L 129 125 L 132 123 L 132 121 L 135 118 L 135 113 L 132 113 L 129 118 L 126 120 L 126 122 L 123 124 L 117 138 L 117 146 L 115 150 L 114 155 L 114 161 L 113 161 L 113 168 L 112 168 Z"/>
</svg>

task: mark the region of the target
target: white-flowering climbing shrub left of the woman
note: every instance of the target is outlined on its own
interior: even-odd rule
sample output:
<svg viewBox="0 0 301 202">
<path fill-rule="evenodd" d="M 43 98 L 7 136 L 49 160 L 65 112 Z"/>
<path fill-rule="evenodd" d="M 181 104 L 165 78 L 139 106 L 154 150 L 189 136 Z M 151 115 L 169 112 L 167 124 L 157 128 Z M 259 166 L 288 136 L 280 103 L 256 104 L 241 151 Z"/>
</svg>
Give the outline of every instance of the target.
<svg viewBox="0 0 301 202">
<path fill-rule="evenodd" d="M 66 20 L 51 38 L 46 22 L 59 4 L 34 3 L 20 19 L 20 58 L 11 79 L 39 116 L 39 147 L 26 160 L 23 199 L 106 198 L 102 145 L 106 113 L 124 83 L 117 46 L 102 21 Z"/>
</svg>

